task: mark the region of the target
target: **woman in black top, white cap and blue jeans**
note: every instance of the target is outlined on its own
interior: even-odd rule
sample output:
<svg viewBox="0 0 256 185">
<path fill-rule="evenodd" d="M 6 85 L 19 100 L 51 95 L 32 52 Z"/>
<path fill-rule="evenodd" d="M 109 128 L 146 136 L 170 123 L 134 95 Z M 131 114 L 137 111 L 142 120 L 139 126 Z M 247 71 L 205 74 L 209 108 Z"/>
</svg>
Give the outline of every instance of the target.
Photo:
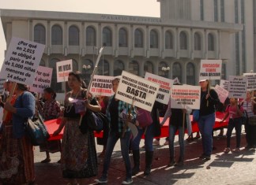
<svg viewBox="0 0 256 185">
<path fill-rule="evenodd" d="M 209 89 L 209 80 L 200 80 L 201 86 L 201 103 L 199 110 L 198 128 L 201 132 L 201 142 L 203 154 L 200 158 L 205 160 L 211 159 L 213 151 L 213 127 L 215 124 L 215 106 L 220 102 L 218 94 L 213 89 Z M 209 89 L 209 92 L 208 92 Z"/>
</svg>

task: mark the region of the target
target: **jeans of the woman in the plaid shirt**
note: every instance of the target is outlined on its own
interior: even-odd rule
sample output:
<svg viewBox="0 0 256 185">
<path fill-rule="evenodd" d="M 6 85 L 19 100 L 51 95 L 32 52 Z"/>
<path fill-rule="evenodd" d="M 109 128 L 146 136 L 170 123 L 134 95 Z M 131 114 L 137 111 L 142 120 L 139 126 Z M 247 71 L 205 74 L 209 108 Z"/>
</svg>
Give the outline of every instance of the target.
<svg viewBox="0 0 256 185">
<path fill-rule="evenodd" d="M 129 145 L 130 145 L 130 131 L 126 131 L 126 134 L 122 138 L 122 133 L 110 131 L 107 139 L 106 153 L 104 157 L 104 169 L 102 176 L 107 178 L 107 171 L 111 162 L 111 155 L 113 153 L 115 143 L 120 139 L 122 158 L 126 165 L 126 178 L 131 178 L 132 169 L 130 165 L 129 157 Z"/>
</svg>

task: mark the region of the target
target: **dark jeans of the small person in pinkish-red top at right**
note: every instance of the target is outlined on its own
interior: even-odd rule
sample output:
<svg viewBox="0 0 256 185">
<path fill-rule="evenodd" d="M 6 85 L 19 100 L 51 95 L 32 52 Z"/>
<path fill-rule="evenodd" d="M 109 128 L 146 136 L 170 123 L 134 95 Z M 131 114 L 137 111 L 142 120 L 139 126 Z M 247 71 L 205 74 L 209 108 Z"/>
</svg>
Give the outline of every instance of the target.
<svg viewBox="0 0 256 185">
<path fill-rule="evenodd" d="M 229 119 L 228 131 L 227 131 L 227 148 L 230 148 L 230 139 L 232 136 L 233 128 L 235 128 L 236 148 L 239 148 L 241 143 L 241 130 L 242 130 L 242 119 L 240 117 L 235 119 Z"/>
</svg>

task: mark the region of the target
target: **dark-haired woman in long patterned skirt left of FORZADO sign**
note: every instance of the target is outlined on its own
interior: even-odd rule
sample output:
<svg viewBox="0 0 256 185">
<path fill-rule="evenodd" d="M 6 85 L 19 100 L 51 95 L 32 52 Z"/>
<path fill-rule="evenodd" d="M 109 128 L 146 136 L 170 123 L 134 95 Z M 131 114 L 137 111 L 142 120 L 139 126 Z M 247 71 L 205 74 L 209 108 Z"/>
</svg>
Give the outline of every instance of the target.
<svg viewBox="0 0 256 185">
<path fill-rule="evenodd" d="M 87 129 L 85 134 L 81 133 L 79 122 L 81 113 L 76 111 L 77 106 L 70 102 L 72 99 L 82 100 L 85 108 L 93 112 L 100 112 L 100 105 L 92 105 L 85 98 L 86 90 L 81 87 L 82 80 L 80 72 L 70 72 L 68 86 L 71 91 L 65 97 L 65 109 L 62 123 L 54 135 L 58 135 L 65 125 L 62 137 L 62 176 L 69 179 L 68 184 L 84 184 L 84 178 L 96 176 L 97 156 L 93 131 Z M 92 101 L 95 101 L 92 99 Z M 91 102 L 92 102 L 91 101 Z M 85 108 L 84 111 L 85 111 Z M 83 124 L 83 123 L 81 123 Z"/>
</svg>

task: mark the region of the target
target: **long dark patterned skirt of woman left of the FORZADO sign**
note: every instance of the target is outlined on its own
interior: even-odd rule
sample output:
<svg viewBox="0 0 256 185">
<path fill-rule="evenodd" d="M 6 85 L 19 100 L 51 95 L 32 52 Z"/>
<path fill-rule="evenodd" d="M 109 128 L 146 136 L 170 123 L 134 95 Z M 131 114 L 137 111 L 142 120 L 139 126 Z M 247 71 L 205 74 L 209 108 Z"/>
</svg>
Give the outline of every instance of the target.
<svg viewBox="0 0 256 185">
<path fill-rule="evenodd" d="M 78 122 L 73 119 L 65 124 L 61 157 L 64 178 L 88 178 L 98 172 L 93 131 L 82 134 Z"/>
</svg>

